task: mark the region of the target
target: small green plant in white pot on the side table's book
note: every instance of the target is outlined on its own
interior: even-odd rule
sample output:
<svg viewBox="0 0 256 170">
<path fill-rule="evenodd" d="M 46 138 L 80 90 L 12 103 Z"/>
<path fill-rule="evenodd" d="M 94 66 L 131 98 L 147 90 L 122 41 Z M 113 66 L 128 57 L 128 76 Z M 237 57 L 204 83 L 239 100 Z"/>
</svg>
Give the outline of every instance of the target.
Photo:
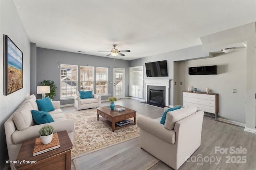
<svg viewBox="0 0 256 170">
<path fill-rule="evenodd" d="M 41 127 L 38 133 L 43 144 L 48 144 L 52 141 L 53 131 L 54 128 L 51 125 Z"/>
</svg>

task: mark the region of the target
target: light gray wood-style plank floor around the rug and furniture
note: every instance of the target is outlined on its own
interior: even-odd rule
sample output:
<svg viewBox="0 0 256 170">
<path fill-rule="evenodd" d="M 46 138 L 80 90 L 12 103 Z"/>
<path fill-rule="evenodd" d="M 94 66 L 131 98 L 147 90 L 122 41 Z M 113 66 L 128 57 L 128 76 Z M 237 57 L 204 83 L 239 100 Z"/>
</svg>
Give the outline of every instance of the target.
<svg viewBox="0 0 256 170">
<path fill-rule="evenodd" d="M 161 107 L 142 104 L 140 101 L 134 99 L 121 99 L 116 101 L 115 104 L 134 109 L 137 113 L 152 119 L 161 117 L 163 113 L 163 109 Z M 110 105 L 110 102 L 102 102 L 102 106 L 108 105 Z M 76 111 L 74 106 L 62 107 L 61 109 L 64 113 Z M 97 170 L 108 169 L 106 167 L 108 167 L 109 164 L 118 165 L 115 166 L 115 168 L 110 168 L 111 170 L 134 170 L 134 167 L 129 168 L 130 162 L 132 161 L 133 164 L 140 164 L 140 161 L 142 161 L 143 158 L 138 156 L 138 150 L 142 150 L 139 147 L 138 138 L 132 140 L 133 142 L 125 141 L 118 144 L 123 148 L 126 148 L 122 150 L 123 153 L 119 153 L 119 155 L 127 154 L 134 159 L 127 162 L 122 159 L 116 159 L 114 156 L 110 156 L 107 160 L 99 162 L 100 165 L 98 167 L 101 168 L 97 168 Z M 129 147 L 127 147 L 128 145 Z M 243 153 L 241 153 L 242 150 Z M 112 148 L 106 148 L 104 151 L 98 150 L 96 153 L 90 153 L 91 155 L 88 155 L 104 156 L 112 155 L 113 152 L 117 152 L 117 150 L 115 151 Z M 144 150 L 142 152 L 144 152 Z M 200 158 L 202 158 L 202 161 Z M 84 157 L 84 159 L 86 159 L 86 157 Z M 95 164 L 96 162 L 93 160 L 95 159 L 90 160 L 91 162 L 84 161 L 84 165 L 81 166 L 87 167 L 87 164 Z M 179 168 L 179 170 L 256 170 L 255 160 L 256 134 L 246 132 L 241 127 L 214 121 L 213 117 L 204 116 L 201 146 L 192 154 L 188 161 Z M 72 170 L 74 169 L 73 165 Z M 83 170 L 85 169 L 86 168 L 83 168 Z M 172 168 L 164 162 L 159 161 L 157 164 L 152 166 L 150 170 L 172 170 Z"/>
</svg>

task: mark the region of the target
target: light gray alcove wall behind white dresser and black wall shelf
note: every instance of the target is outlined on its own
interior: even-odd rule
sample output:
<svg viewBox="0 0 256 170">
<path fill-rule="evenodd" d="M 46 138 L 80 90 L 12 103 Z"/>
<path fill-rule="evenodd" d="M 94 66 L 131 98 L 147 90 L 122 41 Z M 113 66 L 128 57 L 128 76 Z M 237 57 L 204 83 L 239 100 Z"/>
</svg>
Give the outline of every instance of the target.
<svg viewBox="0 0 256 170">
<path fill-rule="evenodd" d="M 220 53 L 216 57 L 177 63 L 177 85 L 175 91 L 179 96 L 177 104 L 183 104 L 183 91 L 188 85 L 197 88 L 198 92 L 206 92 L 206 87 L 211 92 L 219 94 L 218 117 L 245 123 L 246 110 L 246 49 L 232 53 Z M 218 74 L 214 75 L 189 75 L 188 67 L 217 65 Z M 185 70 L 185 71 L 184 71 Z M 183 82 L 180 85 L 180 82 Z M 232 90 L 236 89 L 236 93 Z"/>
</svg>

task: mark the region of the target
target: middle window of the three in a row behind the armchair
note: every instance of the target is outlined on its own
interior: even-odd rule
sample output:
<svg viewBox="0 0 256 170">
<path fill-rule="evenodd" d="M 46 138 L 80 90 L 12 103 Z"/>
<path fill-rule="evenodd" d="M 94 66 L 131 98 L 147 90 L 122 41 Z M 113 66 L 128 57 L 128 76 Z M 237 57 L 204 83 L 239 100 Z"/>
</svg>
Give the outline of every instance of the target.
<svg viewBox="0 0 256 170">
<path fill-rule="evenodd" d="M 80 66 L 80 91 L 94 90 L 94 67 Z"/>
</svg>

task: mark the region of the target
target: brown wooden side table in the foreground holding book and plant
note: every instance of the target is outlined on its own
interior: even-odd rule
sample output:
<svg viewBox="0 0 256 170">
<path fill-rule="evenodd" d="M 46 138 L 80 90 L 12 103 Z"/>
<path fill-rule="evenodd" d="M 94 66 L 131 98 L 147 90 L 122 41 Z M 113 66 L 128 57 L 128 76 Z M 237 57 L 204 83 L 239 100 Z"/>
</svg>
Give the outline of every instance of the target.
<svg viewBox="0 0 256 170">
<path fill-rule="evenodd" d="M 36 139 L 23 141 L 15 168 L 19 170 L 45 170 L 61 169 L 70 170 L 71 168 L 71 149 L 73 144 L 68 137 L 67 131 L 58 132 L 60 147 L 48 152 L 33 156 Z"/>
</svg>

